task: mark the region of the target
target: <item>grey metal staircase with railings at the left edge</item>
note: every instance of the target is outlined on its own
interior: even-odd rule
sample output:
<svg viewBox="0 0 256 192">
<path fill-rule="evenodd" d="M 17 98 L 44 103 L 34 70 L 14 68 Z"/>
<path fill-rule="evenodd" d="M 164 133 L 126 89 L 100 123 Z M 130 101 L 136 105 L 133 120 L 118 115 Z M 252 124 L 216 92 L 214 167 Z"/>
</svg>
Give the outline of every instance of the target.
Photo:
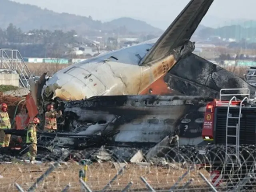
<svg viewBox="0 0 256 192">
<path fill-rule="evenodd" d="M 19 74 L 20 86 L 30 88 L 32 74 L 18 50 L 0 49 L 0 70 Z"/>
</svg>

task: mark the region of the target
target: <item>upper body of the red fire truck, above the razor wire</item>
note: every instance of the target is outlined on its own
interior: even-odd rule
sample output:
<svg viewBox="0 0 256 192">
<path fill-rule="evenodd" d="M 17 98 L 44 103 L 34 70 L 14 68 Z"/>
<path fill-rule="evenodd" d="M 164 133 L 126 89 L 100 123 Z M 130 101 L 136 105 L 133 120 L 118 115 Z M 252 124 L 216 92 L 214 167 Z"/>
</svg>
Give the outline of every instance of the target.
<svg viewBox="0 0 256 192">
<path fill-rule="evenodd" d="M 239 91 L 240 94 L 223 94 Z M 223 100 L 229 97 L 229 100 Z M 239 99 L 240 98 L 240 99 Z M 256 104 L 249 89 L 222 89 L 220 99 L 209 102 L 204 114 L 202 137 L 205 141 L 225 146 L 255 144 Z"/>
</svg>

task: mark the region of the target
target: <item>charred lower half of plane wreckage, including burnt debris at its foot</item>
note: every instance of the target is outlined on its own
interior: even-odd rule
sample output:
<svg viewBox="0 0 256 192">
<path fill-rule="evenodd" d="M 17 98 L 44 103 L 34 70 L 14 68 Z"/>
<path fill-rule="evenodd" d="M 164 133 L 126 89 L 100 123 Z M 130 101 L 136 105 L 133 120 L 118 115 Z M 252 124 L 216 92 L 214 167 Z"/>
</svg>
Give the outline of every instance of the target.
<svg viewBox="0 0 256 192">
<path fill-rule="evenodd" d="M 212 100 L 198 96 L 133 95 L 61 102 L 65 114 L 62 130 L 38 132 L 38 146 L 41 150 L 53 146 L 88 152 L 90 148 L 105 146 L 109 150 L 130 148 L 146 152 L 159 143 L 170 147 L 205 145 L 201 117 L 206 103 Z M 70 132 L 63 132 L 68 129 Z M 26 136 L 26 130 L 5 132 Z"/>
</svg>

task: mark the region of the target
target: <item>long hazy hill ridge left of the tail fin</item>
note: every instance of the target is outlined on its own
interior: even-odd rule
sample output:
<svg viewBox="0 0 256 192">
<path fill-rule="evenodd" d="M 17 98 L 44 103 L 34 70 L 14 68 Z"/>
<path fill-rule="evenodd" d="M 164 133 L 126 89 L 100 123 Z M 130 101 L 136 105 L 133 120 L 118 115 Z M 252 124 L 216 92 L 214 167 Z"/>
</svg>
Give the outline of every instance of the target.
<svg viewBox="0 0 256 192">
<path fill-rule="evenodd" d="M 20 27 L 24 31 L 32 29 L 48 30 L 76 30 L 78 33 L 95 31 L 113 31 L 121 32 L 148 32 L 156 33 L 162 30 L 155 28 L 146 22 L 134 20 L 132 18 L 119 18 L 111 22 L 102 23 L 93 20 L 92 17 L 78 16 L 68 13 L 56 13 L 47 9 L 41 9 L 38 6 L 29 4 L 20 4 L 10 0 L 1 0 L 0 3 L 0 28 L 7 28 L 9 23 Z"/>
</svg>

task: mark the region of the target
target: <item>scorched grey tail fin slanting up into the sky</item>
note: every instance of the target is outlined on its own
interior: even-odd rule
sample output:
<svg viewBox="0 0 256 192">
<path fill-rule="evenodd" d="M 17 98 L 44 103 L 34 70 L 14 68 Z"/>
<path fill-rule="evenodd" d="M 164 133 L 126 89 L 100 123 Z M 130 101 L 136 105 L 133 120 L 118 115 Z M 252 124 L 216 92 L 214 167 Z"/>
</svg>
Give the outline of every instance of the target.
<svg viewBox="0 0 256 192">
<path fill-rule="evenodd" d="M 175 48 L 187 44 L 212 2 L 213 0 L 190 0 L 139 64 L 158 62 L 169 56 Z"/>
</svg>

